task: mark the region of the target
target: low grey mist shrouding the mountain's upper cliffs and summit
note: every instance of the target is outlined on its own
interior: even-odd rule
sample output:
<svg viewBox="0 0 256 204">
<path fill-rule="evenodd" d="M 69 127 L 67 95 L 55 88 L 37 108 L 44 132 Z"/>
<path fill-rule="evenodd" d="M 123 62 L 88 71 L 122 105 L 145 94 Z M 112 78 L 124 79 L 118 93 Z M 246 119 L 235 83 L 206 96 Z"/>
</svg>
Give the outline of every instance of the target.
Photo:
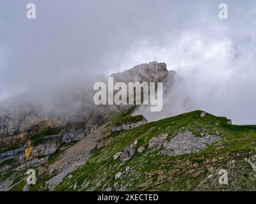
<svg viewBox="0 0 256 204">
<path fill-rule="evenodd" d="M 175 71 L 168 71 L 165 63 L 140 64 L 122 73 L 113 74 L 111 77 L 115 82 L 127 84 L 129 82 L 163 82 L 163 110 L 150 113 L 148 106 L 143 105 L 136 109 L 135 113 L 145 115 L 147 120 L 170 117 L 193 107 L 193 101 L 186 97 L 185 89 L 182 89 L 181 77 Z M 4 141 L 12 138 L 15 138 L 13 141 L 17 138 L 24 140 L 24 133 L 28 133 L 35 126 L 58 127 L 65 126 L 68 122 L 83 122 L 88 126 L 100 124 L 99 118 L 104 122 L 111 113 L 118 113 L 132 106 L 95 105 L 93 84 L 99 81 L 108 84 L 106 77 L 95 76 L 80 83 L 59 85 L 50 91 L 48 91 L 50 87 L 46 86 L 44 89 L 2 101 L 0 106 L 1 142 L 5 143 Z"/>
</svg>

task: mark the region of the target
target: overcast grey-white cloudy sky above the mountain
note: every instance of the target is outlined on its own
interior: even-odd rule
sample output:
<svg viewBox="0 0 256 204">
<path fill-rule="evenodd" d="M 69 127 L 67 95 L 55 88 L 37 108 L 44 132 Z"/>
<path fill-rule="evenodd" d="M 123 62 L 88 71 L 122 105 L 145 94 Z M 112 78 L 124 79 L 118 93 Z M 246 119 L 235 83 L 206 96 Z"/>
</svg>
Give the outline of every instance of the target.
<svg viewBox="0 0 256 204">
<path fill-rule="evenodd" d="M 256 124 L 255 29 L 254 0 L 1 0 L 0 100 L 156 59 L 198 108 Z"/>
</svg>

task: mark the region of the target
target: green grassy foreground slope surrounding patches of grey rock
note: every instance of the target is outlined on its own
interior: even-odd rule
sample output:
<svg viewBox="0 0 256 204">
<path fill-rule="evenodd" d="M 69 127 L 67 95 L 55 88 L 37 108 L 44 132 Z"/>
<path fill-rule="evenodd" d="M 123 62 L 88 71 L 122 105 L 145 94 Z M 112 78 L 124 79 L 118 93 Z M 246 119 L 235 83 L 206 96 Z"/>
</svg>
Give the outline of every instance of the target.
<svg viewBox="0 0 256 204">
<path fill-rule="evenodd" d="M 73 171 L 72 177 L 67 176 L 55 190 L 256 190 L 256 173 L 244 161 L 244 157 L 252 156 L 255 151 L 256 126 L 234 126 L 227 124 L 225 117 L 211 114 L 200 117 L 200 113 L 184 113 L 129 131 L 111 133 L 106 137 L 106 140 L 113 138 L 111 143 L 94 150 L 88 162 Z M 221 142 L 210 145 L 198 154 L 182 156 L 161 156 L 158 154 L 161 149 L 147 149 L 148 142 L 154 136 L 168 133 L 170 140 L 177 133 L 186 131 L 191 131 L 195 136 L 219 133 Z M 136 153 L 124 164 L 119 159 L 113 159 L 116 152 L 122 152 L 135 140 L 138 140 L 137 147 L 143 145 L 146 148 L 145 152 Z M 232 160 L 235 163 L 230 163 Z M 125 171 L 127 166 L 130 167 L 128 172 Z M 218 184 L 220 168 L 228 170 L 227 186 Z M 123 172 L 123 175 L 115 179 L 118 172 Z M 33 190 L 38 189 L 33 187 Z"/>
</svg>

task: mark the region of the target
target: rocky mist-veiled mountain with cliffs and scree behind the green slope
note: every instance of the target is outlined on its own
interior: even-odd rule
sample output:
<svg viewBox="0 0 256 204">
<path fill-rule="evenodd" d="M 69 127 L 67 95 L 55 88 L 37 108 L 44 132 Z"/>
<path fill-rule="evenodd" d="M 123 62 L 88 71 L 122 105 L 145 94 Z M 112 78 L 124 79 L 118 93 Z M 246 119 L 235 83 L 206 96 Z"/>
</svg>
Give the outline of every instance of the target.
<svg viewBox="0 0 256 204">
<path fill-rule="evenodd" d="M 168 71 L 165 63 L 150 62 L 111 77 L 114 82 L 163 82 L 164 89 L 171 91 L 175 72 Z M 106 78 L 101 79 L 102 82 L 104 80 Z M 61 99 L 58 103 L 54 101 L 56 106 L 52 111 L 45 111 L 42 103 L 39 105 L 35 103 L 36 100 L 31 100 L 33 95 L 30 98 L 11 98 L 0 105 L 0 185 L 1 177 L 8 171 L 16 172 L 3 181 L 2 190 L 8 189 L 10 180 L 19 177 L 26 168 L 42 165 L 47 166 L 47 172 L 51 175 L 56 174 L 49 180 L 49 186 L 53 189 L 69 172 L 76 170 L 90 157 L 94 147 L 108 145 L 102 140 L 104 136 L 112 131 L 129 131 L 148 122 L 143 115 L 132 116 L 129 112 L 122 120 L 116 120 L 115 126 L 100 128 L 108 121 L 112 124 L 113 118 L 124 110 L 131 110 L 132 105 L 94 105 L 93 84 L 84 87 L 82 92 L 75 92 L 71 91 L 70 95 L 65 93 L 64 96 L 57 93 Z M 47 97 L 50 99 L 52 96 Z M 75 98 L 79 106 L 63 108 L 63 104 L 69 103 L 65 101 L 67 97 Z M 98 140 L 102 140 L 102 143 L 99 144 Z M 54 157 L 58 157 L 58 154 L 62 156 L 55 164 Z"/>
</svg>

